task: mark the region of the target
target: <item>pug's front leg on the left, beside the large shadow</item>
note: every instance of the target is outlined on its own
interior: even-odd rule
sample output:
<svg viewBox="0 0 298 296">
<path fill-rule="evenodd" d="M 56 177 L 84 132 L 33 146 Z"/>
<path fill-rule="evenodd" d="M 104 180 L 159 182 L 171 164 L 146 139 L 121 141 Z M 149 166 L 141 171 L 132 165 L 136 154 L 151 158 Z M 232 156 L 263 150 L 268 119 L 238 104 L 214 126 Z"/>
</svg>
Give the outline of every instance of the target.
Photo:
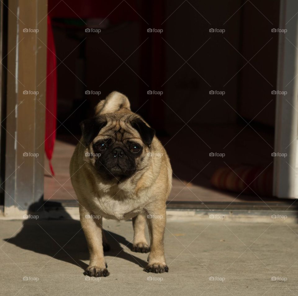
<svg viewBox="0 0 298 296">
<path fill-rule="evenodd" d="M 97 219 L 98 218 L 98 219 Z M 102 218 L 92 215 L 80 206 L 80 221 L 87 240 L 90 263 L 84 274 L 88 276 L 108 276 L 102 246 Z"/>
</svg>

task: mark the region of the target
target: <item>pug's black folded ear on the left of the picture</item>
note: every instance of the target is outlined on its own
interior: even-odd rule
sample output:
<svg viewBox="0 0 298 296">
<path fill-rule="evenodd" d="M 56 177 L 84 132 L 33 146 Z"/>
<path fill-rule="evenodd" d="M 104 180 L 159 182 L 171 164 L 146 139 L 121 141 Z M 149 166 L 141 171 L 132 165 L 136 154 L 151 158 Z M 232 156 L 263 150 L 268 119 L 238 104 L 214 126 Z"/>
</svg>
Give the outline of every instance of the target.
<svg viewBox="0 0 298 296">
<path fill-rule="evenodd" d="M 100 130 L 106 126 L 107 122 L 98 117 L 93 117 L 90 119 L 85 119 L 80 123 L 82 130 L 82 136 L 86 145 L 90 145 L 93 139 L 98 135 Z"/>
</svg>

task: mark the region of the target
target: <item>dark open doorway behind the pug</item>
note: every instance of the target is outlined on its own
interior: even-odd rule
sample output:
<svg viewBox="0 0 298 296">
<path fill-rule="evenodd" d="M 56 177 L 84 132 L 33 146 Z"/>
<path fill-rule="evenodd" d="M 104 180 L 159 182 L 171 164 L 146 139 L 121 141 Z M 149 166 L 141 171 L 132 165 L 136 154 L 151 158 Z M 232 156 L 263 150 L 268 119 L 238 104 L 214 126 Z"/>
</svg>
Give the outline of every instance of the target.
<svg viewBox="0 0 298 296">
<path fill-rule="evenodd" d="M 272 29 L 279 25 L 279 1 L 230 4 L 219 4 L 218 19 L 209 12 L 212 3 L 186 2 L 175 11 L 177 1 L 163 2 L 160 15 L 148 13 L 156 4 L 138 3 L 135 20 L 115 21 L 113 14 L 111 20 L 93 20 L 100 34 L 82 33 L 88 19 L 54 20 L 57 56 L 65 64 L 58 69 L 57 117 L 63 125 L 52 160 L 56 180 L 46 167 L 46 200 L 75 199 L 68 164 L 79 122 L 117 90 L 156 129 L 169 153 L 171 204 L 277 201 L 271 187 L 278 34 Z M 153 66 L 154 61 L 160 63 Z M 212 179 L 221 168 L 236 175 L 237 169 L 257 169 L 255 177 L 269 176 L 270 192 L 218 188 Z"/>
</svg>

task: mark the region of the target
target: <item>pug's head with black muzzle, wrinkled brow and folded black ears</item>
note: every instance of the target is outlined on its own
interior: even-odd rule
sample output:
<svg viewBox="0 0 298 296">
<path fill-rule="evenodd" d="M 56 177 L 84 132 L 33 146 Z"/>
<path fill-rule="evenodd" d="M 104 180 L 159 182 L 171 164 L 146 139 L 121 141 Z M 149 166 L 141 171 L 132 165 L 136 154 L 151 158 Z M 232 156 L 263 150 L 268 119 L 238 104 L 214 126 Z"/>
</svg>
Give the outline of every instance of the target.
<svg viewBox="0 0 298 296">
<path fill-rule="evenodd" d="M 135 114 L 104 114 L 81 123 L 87 160 L 106 179 L 129 178 L 147 166 L 155 131 Z"/>
</svg>

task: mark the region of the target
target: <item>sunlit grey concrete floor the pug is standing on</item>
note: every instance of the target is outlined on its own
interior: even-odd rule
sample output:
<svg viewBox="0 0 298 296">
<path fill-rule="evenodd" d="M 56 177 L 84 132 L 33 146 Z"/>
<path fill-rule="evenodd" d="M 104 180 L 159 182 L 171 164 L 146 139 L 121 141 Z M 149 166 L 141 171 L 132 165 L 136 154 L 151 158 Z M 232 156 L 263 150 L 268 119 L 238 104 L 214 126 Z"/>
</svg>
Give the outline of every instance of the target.
<svg viewBox="0 0 298 296">
<path fill-rule="evenodd" d="M 163 274 L 143 271 L 147 254 L 130 251 L 131 221 L 104 221 L 111 275 L 97 279 L 83 275 L 88 251 L 79 221 L 2 220 L 0 294 L 298 294 L 297 224 L 217 220 L 168 222 Z"/>
</svg>

